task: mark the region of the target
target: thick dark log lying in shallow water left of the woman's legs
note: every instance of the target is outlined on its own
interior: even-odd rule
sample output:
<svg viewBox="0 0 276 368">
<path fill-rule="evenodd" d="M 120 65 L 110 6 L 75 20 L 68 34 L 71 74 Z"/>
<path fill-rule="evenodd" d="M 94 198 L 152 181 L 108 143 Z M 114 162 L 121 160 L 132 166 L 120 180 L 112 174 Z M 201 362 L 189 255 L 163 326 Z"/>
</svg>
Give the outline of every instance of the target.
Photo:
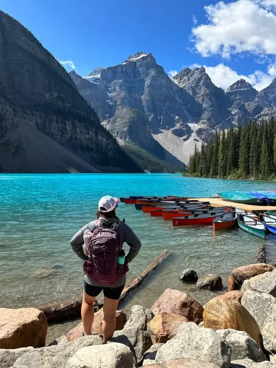
<svg viewBox="0 0 276 368">
<path fill-rule="evenodd" d="M 63 321 L 66 319 L 80 316 L 81 300 L 65 301 L 56 304 L 45 304 L 36 307 L 45 313 L 48 322 Z M 97 312 L 103 304 L 97 300 L 94 303 L 94 311 Z"/>
</svg>

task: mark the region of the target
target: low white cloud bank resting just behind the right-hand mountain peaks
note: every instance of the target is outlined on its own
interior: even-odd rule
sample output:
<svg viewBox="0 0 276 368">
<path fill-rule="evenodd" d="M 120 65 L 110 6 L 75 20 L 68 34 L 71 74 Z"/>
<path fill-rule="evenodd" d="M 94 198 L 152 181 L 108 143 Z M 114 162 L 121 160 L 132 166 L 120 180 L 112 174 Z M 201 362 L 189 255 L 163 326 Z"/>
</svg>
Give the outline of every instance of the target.
<svg viewBox="0 0 276 368">
<path fill-rule="evenodd" d="M 251 83 L 254 88 L 261 90 L 268 86 L 271 81 L 276 77 L 276 63 L 270 64 L 267 68 L 267 73 L 261 70 L 256 70 L 253 74 L 243 75 L 238 74 L 235 70 L 231 69 L 223 63 L 213 67 L 203 65 L 206 73 L 211 78 L 212 82 L 223 89 L 226 89 L 229 85 L 235 83 L 237 80 L 243 78 L 247 82 Z M 192 68 L 199 68 L 201 65 L 193 64 Z"/>
</svg>

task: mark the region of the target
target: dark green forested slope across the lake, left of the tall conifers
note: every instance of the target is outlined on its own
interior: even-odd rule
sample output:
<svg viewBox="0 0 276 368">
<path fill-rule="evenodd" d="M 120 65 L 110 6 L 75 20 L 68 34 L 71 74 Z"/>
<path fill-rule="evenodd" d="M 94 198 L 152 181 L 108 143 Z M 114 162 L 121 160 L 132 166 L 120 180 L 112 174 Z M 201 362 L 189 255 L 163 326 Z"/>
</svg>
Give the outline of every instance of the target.
<svg viewBox="0 0 276 368">
<path fill-rule="evenodd" d="M 182 168 L 160 160 L 158 157 L 133 143 L 125 143 L 121 148 L 144 171 L 156 173 L 182 171 Z"/>
</svg>

